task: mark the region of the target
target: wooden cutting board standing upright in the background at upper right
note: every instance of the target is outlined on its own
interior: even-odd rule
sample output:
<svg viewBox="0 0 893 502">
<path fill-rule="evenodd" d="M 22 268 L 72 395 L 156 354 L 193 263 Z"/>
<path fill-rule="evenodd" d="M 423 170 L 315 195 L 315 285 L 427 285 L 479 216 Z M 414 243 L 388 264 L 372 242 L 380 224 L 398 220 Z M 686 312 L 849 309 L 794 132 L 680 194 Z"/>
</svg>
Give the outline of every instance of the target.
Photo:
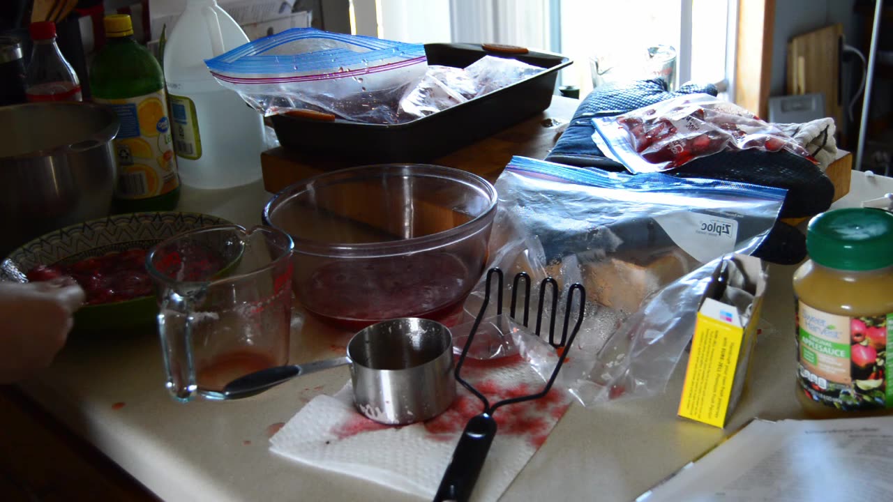
<svg viewBox="0 0 893 502">
<path fill-rule="evenodd" d="M 788 94 L 822 93 L 825 116 L 843 123 L 840 96 L 840 43 L 843 25 L 832 24 L 791 38 L 788 43 Z"/>
</svg>

